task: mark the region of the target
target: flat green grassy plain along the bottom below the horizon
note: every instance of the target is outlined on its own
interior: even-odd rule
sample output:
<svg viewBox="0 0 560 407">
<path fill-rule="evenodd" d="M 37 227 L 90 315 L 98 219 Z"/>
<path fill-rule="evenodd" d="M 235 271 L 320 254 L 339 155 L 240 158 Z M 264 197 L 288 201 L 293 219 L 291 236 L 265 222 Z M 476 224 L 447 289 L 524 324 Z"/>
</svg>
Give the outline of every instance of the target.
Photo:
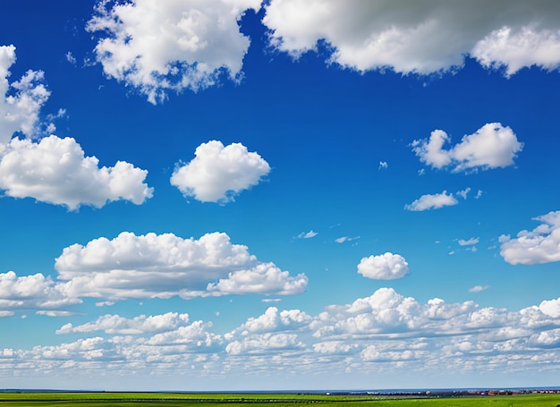
<svg viewBox="0 0 560 407">
<path fill-rule="evenodd" d="M 417 398 L 393 395 L 181 394 L 181 393 L 5 393 L 0 407 L 557 407 L 560 394 Z"/>
</svg>

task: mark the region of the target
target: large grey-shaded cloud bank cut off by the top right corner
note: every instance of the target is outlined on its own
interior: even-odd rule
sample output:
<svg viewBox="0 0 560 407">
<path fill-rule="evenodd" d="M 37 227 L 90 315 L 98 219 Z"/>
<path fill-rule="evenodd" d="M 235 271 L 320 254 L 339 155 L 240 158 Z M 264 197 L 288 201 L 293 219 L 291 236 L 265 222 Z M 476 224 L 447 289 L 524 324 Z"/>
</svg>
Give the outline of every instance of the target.
<svg viewBox="0 0 560 407">
<path fill-rule="evenodd" d="M 449 71 L 469 54 L 485 67 L 505 66 L 507 75 L 560 64 L 555 2 L 272 0 L 265 7 L 274 47 L 297 57 L 324 40 L 333 48 L 328 63 L 361 72 Z"/>
</svg>

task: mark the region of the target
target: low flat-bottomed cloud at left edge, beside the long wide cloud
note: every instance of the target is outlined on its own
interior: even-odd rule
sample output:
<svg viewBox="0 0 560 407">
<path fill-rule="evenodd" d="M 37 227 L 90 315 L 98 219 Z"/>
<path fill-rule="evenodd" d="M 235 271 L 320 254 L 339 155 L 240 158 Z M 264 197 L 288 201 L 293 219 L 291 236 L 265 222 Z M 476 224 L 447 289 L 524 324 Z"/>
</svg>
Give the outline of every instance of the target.
<svg viewBox="0 0 560 407">
<path fill-rule="evenodd" d="M 80 302 L 64 293 L 50 276 L 17 276 L 13 271 L 0 274 L 0 311 L 4 316 L 13 315 L 13 309 L 54 310 Z"/>
</svg>

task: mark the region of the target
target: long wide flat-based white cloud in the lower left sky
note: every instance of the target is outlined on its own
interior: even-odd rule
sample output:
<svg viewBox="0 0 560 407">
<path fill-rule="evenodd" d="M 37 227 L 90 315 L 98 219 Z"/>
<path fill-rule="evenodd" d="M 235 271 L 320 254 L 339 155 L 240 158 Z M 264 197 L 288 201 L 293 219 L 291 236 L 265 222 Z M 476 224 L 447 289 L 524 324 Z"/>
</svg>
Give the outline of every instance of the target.
<svg viewBox="0 0 560 407">
<path fill-rule="evenodd" d="M 225 233 L 208 233 L 198 240 L 173 233 L 73 244 L 56 259 L 58 279 L 73 296 L 183 299 L 229 293 L 301 293 L 303 274 L 290 276 L 273 263 L 262 263 L 247 246 L 233 244 Z"/>
</svg>

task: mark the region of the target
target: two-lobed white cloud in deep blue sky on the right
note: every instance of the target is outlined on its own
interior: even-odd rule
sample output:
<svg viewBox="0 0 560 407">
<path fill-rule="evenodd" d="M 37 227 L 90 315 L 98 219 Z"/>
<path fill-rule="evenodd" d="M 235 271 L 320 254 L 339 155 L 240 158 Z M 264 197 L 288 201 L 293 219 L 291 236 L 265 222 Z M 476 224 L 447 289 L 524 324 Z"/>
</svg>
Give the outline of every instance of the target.
<svg viewBox="0 0 560 407">
<path fill-rule="evenodd" d="M 454 172 L 460 172 L 513 165 L 513 159 L 523 148 L 513 130 L 501 123 L 487 123 L 473 134 L 462 136 L 453 148 L 444 149 L 450 140 L 445 131 L 435 130 L 428 140 L 414 140 L 412 150 L 427 165 L 451 165 Z"/>
</svg>

